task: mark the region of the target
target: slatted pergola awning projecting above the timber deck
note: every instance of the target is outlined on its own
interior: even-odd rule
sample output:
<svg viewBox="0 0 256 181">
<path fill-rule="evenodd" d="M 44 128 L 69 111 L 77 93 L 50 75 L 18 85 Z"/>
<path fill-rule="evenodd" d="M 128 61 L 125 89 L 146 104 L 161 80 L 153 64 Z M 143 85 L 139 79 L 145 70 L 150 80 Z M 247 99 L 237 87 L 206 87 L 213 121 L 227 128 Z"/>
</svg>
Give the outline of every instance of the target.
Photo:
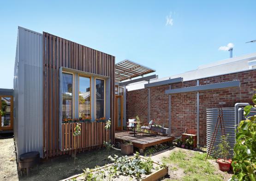
<svg viewBox="0 0 256 181">
<path fill-rule="evenodd" d="M 143 76 L 152 72 L 155 72 L 155 70 L 128 59 L 115 64 L 115 80 L 117 82 Z"/>
</svg>

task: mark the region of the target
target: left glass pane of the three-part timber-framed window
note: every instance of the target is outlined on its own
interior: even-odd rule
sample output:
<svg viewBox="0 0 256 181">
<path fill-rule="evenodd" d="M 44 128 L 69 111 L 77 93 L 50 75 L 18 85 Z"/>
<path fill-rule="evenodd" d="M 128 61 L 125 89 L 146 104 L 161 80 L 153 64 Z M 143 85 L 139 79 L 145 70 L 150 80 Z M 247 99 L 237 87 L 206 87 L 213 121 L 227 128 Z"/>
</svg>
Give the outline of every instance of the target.
<svg viewBox="0 0 256 181">
<path fill-rule="evenodd" d="M 72 119 L 73 75 L 62 74 L 62 119 Z"/>
</svg>

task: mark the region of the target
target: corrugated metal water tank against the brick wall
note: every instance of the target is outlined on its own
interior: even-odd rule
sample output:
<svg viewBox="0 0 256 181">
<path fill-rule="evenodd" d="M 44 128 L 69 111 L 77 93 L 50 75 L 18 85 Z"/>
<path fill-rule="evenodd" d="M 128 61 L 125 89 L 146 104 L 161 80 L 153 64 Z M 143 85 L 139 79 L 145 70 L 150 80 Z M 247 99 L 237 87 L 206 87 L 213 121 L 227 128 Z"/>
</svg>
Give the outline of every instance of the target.
<svg viewBox="0 0 256 181">
<path fill-rule="evenodd" d="M 230 147 L 233 148 L 235 144 L 235 108 L 234 107 L 225 107 L 223 110 L 223 120 L 225 125 L 225 132 L 229 134 L 229 142 Z M 210 146 L 211 139 L 213 136 L 215 124 L 217 122 L 219 116 L 218 108 L 207 108 L 206 109 L 207 123 L 206 123 L 206 139 L 207 139 L 207 150 Z M 221 129 L 219 127 L 218 134 L 216 136 L 216 140 L 214 142 L 214 150 L 217 150 L 217 145 L 220 143 Z M 232 155 L 232 150 L 230 151 L 230 155 Z"/>
</svg>

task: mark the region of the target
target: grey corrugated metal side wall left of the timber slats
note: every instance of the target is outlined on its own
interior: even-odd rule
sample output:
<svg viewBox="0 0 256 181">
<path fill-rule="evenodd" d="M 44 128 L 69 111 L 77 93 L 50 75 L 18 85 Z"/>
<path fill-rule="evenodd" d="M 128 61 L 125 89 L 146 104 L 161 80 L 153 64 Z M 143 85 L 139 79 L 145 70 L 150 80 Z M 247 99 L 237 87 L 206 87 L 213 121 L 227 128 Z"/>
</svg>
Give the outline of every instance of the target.
<svg viewBox="0 0 256 181">
<path fill-rule="evenodd" d="M 39 151 L 42 157 L 42 34 L 18 27 L 13 84 L 18 155 Z"/>
</svg>

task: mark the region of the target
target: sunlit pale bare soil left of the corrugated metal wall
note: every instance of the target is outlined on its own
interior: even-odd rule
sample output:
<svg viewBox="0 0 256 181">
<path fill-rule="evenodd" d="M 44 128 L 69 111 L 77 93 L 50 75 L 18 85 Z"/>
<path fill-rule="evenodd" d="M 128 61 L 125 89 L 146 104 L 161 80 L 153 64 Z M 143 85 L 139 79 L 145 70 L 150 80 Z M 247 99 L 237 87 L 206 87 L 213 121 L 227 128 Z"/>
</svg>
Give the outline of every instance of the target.
<svg viewBox="0 0 256 181">
<path fill-rule="evenodd" d="M 17 181 L 18 170 L 12 134 L 0 135 L 0 181 Z"/>
</svg>

